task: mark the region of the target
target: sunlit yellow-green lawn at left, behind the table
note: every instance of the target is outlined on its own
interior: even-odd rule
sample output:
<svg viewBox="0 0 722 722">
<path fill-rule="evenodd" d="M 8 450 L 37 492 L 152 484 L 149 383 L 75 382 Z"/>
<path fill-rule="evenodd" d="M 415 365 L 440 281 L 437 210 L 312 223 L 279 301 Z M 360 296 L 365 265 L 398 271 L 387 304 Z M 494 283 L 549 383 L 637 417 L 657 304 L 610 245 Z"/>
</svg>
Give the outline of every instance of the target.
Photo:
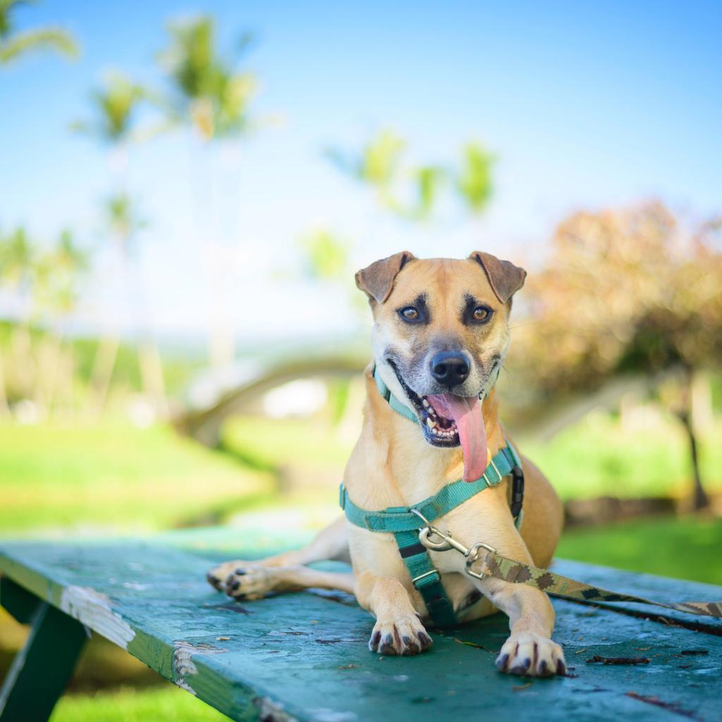
<svg viewBox="0 0 722 722">
<path fill-rule="evenodd" d="M 0 529 L 145 531 L 212 523 L 271 479 L 168 427 L 0 427 Z"/>
</svg>

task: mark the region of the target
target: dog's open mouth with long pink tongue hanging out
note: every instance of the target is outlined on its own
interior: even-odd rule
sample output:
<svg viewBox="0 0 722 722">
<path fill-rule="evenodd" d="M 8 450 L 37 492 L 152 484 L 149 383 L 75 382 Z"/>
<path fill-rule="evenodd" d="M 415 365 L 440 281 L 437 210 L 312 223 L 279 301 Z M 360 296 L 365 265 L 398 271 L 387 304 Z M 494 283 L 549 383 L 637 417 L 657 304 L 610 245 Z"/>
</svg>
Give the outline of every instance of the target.
<svg viewBox="0 0 722 722">
<path fill-rule="evenodd" d="M 479 397 L 452 393 L 420 396 L 404 381 L 396 365 L 388 364 L 414 406 L 427 443 L 447 448 L 461 445 L 464 481 L 478 479 L 486 469 L 488 453 Z"/>
</svg>

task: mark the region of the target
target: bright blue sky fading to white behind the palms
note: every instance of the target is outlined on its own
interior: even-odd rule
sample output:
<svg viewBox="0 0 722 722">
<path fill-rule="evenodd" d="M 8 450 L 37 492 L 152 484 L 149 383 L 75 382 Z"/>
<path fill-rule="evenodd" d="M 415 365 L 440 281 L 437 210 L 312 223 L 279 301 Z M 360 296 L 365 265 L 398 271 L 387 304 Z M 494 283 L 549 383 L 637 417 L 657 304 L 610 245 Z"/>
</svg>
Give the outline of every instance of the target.
<svg viewBox="0 0 722 722">
<path fill-rule="evenodd" d="M 105 154 L 68 125 L 107 69 L 160 86 L 165 22 L 199 11 L 216 15 L 222 45 L 256 34 L 247 63 L 261 79 L 257 110 L 282 117 L 235 163 L 212 166 L 230 269 L 222 298 L 240 336 L 355 323 L 344 292 L 293 279 L 297 238 L 310 227 L 353 240 L 359 265 L 404 247 L 452 256 L 484 248 L 533 267 L 554 224 L 581 207 L 656 196 L 695 217 L 722 211 L 718 3 L 45 0 L 17 12 L 20 27 L 65 25 L 82 58 L 38 56 L 0 71 L 2 227 L 24 223 L 52 238 L 70 226 L 102 247 Z M 386 126 L 418 162 L 453 160 L 468 139 L 487 144 L 498 162 L 483 221 L 450 213 L 405 225 L 321 155 Z M 204 172 L 183 134 L 131 155 L 129 185 L 151 221 L 139 239 L 149 317 L 166 335 L 198 334 L 212 313 L 199 242 L 208 231 L 193 211 Z M 106 256 L 84 293 L 85 326 L 129 324 Z"/>
</svg>

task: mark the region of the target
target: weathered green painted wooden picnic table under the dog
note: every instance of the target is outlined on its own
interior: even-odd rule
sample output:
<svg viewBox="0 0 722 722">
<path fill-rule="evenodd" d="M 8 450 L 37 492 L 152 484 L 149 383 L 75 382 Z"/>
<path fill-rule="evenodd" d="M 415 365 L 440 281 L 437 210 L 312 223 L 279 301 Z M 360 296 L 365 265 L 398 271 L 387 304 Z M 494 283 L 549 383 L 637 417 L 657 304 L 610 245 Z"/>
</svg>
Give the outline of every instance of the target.
<svg viewBox="0 0 722 722">
<path fill-rule="evenodd" d="M 434 645 L 421 656 L 381 657 L 366 646 L 370 615 L 344 593 L 310 591 L 239 604 L 210 588 L 205 573 L 211 562 L 253 554 L 239 548 L 240 536 L 229 529 L 135 541 L 0 542 L 0 602 L 31 625 L 0 692 L 0 720 L 50 716 L 87 630 L 238 721 L 391 716 L 445 722 L 525 714 L 543 720 L 722 719 L 722 625 L 716 620 L 660 615 L 634 604 L 620 614 L 554 600 L 554 638 L 565 648 L 566 678 L 495 671 L 495 653 L 508 633 L 502 614 L 432 632 Z M 554 568 L 663 601 L 722 599 L 719 586 L 561 560 Z M 604 664 L 595 658 L 648 661 Z"/>
</svg>

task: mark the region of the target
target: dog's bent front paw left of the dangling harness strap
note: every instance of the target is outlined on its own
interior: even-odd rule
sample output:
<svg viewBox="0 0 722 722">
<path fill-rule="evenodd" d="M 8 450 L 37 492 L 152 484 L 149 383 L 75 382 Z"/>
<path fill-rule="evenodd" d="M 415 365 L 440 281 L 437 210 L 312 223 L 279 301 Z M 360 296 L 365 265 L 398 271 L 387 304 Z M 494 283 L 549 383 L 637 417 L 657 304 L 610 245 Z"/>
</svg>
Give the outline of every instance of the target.
<svg viewBox="0 0 722 722">
<path fill-rule="evenodd" d="M 372 652 L 418 654 L 430 647 L 431 638 L 399 580 L 362 572 L 356 580 L 356 598 L 376 617 L 368 643 Z"/>
</svg>

